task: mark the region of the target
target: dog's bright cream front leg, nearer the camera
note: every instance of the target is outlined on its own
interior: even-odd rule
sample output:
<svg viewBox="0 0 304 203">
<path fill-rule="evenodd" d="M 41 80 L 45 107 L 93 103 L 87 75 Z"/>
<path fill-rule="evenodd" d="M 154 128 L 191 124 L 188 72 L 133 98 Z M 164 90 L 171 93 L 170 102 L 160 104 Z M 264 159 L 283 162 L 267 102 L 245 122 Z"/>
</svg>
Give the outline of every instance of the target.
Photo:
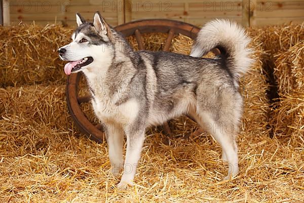
<svg viewBox="0 0 304 203">
<path fill-rule="evenodd" d="M 136 167 L 144 141 L 144 130 L 132 130 L 127 133 L 127 152 L 124 164 L 124 173 L 121 182 L 117 185 L 119 189 L 126 189 L 133 186 L 133 179 L 136 174 Z"/>
</svg>

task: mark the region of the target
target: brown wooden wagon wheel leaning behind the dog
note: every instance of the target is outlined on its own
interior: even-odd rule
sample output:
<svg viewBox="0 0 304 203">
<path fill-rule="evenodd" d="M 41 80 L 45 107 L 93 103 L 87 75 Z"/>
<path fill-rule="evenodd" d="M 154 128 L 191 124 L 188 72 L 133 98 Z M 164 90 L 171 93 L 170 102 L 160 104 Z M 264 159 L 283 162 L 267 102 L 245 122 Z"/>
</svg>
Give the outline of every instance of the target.
<svg viewBox="0 0 304 203">
<path fill-rule="evenodd" d="M 197 33 L 200 30 L 197 26 L 188 23 L 165 19 L 133 21 L 119 25 L 115 27 L 115 29 L 122 32 L 125 37 L 135 35 L 136 41 L 138 43 L 138 48 L 140 50 L 144 49 L 141 33 L 168 33 L 163 51 L 169 51 L 174 35 L 180 33 L 184 36 L 195 39 Z M 88 103 L 90 101 L 90 95 L 79 95 L 79 81 L 81 76 L 81 73 L 77 73 L 71 74 L 67 77 L 66 98 L 68 110 L 73 121 L 81 132 L 86 134 L 87 137 L 91 140 L 103 142 L 104 133 L 102 132 L 101 125 L 94 125 L 91 123 L 80 107 L 80 104 Z M 168 123 L 164 124 L 164 131 L 165 133 L 170 134 L 170 127 Z"/>
</svg>

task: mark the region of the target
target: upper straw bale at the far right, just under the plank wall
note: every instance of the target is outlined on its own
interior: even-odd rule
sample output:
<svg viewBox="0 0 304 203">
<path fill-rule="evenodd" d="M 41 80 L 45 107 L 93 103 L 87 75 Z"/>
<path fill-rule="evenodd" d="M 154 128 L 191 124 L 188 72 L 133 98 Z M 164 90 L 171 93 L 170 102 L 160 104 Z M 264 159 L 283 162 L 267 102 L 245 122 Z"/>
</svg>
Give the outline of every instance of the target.
<svg viewBox="0 0 304 203">
<path fill-rule="evenodd" d="M 257 44 L 260 44 L 261 49 L 265 52 L 262 58 L 264 69 L 268 69 L 265 70 L 269 72 L 268 74 L 274 74 L 273 79 L 268 76 L 270 80 L 275 80 L 270 82 L 277 83 L 279 92 L 285 92 L 286 89 L 284 88 L 292 89 L 292 80 L 301 80 L 302 78 L 302 63 L 294 63 L 295 61 L 300 62 L 300 58 L 303 57 L 303 49 L 301 48 L 304 40 L 304 22 L 302 24 L 289 23 L 265 26 L 263 28 L 251 27 L 248 31 L 250 36 L 254 38 Z M 292 74 L 297 79 L 286 78 L 287 75 L 291 76 L 291 65 L 297 66 L 296 70 L 292 71 Z"/>
</svg>

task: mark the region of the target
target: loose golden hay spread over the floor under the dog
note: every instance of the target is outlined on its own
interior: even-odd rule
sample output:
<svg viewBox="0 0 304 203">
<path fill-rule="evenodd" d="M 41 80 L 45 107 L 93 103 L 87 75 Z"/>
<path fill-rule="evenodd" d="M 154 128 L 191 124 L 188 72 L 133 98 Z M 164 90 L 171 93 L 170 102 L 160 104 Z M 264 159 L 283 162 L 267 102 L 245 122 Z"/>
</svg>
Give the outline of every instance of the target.
<svg viewBox="0 0 304 203">
<path fill-rule="evenodd" d="M 20 87 L 1 89 L 18 100 Z M 227 164 L 220 160 L 219 145 L 203 133 L 193 139 L 175 138 L 170 146 L 162 144 L 162 135 L 151 129 L 139 162 L 136 186 L 118 191 L 119 178 L 109 175 L 106 143 L 97 144 L 79 134 L 64 113 L 65 98 L 31 101 L 36 92 L 63 92 L 56 86 L 24 86 L 22 105 L 41 105 L 50 119 L 37 119 L 18 107 L 2 112 L 0 119 L 0 199 L 8 202 L 180 202 L 245 201 L 301 202 L 303 168 L 300 150 L 293 142 L 282 144 L 277 138 L 257 134 L 239 136 L 241 172 L 228 182 L 219 182 Z M 59 91 L 60 90 L 60 91 Z M 16 95 L 16 96 L 15 96 Z M 26 96 L 27 95 L 27 96 Z M 48 93 L 43 97 L 48 97 Z M 16 98 L 17 97 L 17 98 Z M 52 97 L 52 96 L 50 96 Z M 50 98 L 49 97 L 49 98 Z M 27 100 L 25 100 L 27 99 Z M 20 100 L 18 100 L 20 101 Z M 6 100 L 6 103 L 9 103 Z M 15 102 L 15 101 L 13 101 Z M 60 105 L 56 106 L 59 103 Z M 57 109 L 59 108 L 59 109 Z M 40 111 L 44 110 L 40 109 Z M 33 112 L 36 108 L 33 107 Z M 66 110 L 65 110 L 66 111 Z M 30 112 L 26 110 L 25 112 Z M 54 123 L 62 116 L 60 129 Z M 180 123 L 185 129 L 192 124 Z M 64 127 L 65 126 L 65 127 Z M 179 133 L 184 133 L 180 131 Z M 282 187 L 282 185 L 284 187 Z M 274 195 L 274 193 L 276 195 Z"/>
</svg>

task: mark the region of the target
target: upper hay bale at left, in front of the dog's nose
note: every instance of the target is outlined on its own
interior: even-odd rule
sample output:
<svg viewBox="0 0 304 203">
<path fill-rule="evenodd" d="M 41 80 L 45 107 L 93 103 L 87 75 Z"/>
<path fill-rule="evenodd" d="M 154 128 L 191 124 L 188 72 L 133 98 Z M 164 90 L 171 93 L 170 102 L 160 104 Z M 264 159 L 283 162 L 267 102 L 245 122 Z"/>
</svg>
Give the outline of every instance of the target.
<svg viewBox="0 0 304 203">
<path fill-rule="evenodd" d="M 0 85 L 63 84 L 57 50 L 70 41 L 71 31 L 61 25 L 0 26 Z"/>
</svg>

